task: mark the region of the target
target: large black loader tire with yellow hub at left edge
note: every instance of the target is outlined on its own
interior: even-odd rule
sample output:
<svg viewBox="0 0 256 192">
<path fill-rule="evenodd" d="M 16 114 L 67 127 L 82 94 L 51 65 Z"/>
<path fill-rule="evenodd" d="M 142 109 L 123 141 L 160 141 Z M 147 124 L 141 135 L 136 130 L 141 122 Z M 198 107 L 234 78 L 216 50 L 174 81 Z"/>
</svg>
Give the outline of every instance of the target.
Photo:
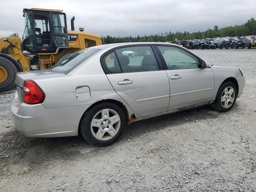
<svg viewBox="0 0 256 192">
<path fill-rule="evenodd" d="M 14 86 L 17 72 L 18 70 L 12 61 L 0 56 L 0 92 Z"/>
</svg>

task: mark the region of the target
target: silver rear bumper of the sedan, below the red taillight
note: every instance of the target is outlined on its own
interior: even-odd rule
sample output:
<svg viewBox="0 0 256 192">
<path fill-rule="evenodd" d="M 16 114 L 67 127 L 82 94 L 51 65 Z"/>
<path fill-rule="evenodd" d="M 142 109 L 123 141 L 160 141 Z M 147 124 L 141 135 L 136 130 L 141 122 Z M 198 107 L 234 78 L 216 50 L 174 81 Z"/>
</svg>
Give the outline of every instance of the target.
<svg viewBox="0 0 256 192">
<path fill-rule="evenodd" d="M 42 104 L 19 104 L 16 93 L 11 103 L 16 130 L 27 137 L 77 136 L 82 115 L 90 105 L 47 109 Z"/>
</svg>

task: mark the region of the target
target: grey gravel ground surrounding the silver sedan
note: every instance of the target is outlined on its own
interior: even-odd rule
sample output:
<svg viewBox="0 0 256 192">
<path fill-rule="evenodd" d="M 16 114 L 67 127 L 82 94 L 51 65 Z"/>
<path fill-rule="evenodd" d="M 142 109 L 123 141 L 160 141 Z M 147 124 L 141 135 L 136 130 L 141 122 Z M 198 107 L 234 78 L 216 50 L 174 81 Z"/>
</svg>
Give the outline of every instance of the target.
<svg viewBox="0 0 256 192">
<path fill-rule="evenodd" d="M 25 138 L 14 128 L 14 91 L 0 94 L 0 191 L 256 192 L 256 50 L 193 50 L 239 66 L 244 94 L 229 112 L 209 106 L 127 126 L 112 146 L 82 138 Z"/>
</svg>

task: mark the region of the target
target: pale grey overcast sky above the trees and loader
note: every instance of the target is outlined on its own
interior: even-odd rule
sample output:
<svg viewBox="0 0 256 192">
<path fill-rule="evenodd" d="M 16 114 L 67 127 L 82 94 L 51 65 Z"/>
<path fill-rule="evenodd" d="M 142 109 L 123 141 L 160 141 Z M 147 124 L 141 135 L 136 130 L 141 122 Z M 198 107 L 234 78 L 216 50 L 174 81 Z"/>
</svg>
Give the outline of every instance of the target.
<svg viewBox="0 0 256 192">
<path fill-rule="evenodd" d="M 205 31 L 256 18 L 256 0 L 0 0 L 0 37 L 24 31 L 23 8 L 60 9 L 75 29 L 102 36 Z"/>
</svg>

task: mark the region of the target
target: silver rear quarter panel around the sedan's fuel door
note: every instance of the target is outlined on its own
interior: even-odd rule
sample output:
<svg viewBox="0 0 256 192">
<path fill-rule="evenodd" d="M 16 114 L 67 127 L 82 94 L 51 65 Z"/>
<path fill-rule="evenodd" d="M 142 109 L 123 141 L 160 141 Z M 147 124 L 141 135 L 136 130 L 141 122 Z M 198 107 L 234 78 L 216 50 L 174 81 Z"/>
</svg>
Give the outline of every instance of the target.
<svg viewBox="0 0 256 192">
<path fill-rule="evenodd" d="M 101 100 L 113 99 L 124 104 L 129 115 L 132 114 L 130 107 L 111 86 L 100 64 L 100 56 L 89 58 L 64 76 L 57 78 L 38 77 L 33 80 L 46 94 L 42 103 L 45 108 L 90 105 Z M 76 98 L 76 88 L 80 86 L 90 88 L 89 100 L 78 101 Z"/>
</svg>

